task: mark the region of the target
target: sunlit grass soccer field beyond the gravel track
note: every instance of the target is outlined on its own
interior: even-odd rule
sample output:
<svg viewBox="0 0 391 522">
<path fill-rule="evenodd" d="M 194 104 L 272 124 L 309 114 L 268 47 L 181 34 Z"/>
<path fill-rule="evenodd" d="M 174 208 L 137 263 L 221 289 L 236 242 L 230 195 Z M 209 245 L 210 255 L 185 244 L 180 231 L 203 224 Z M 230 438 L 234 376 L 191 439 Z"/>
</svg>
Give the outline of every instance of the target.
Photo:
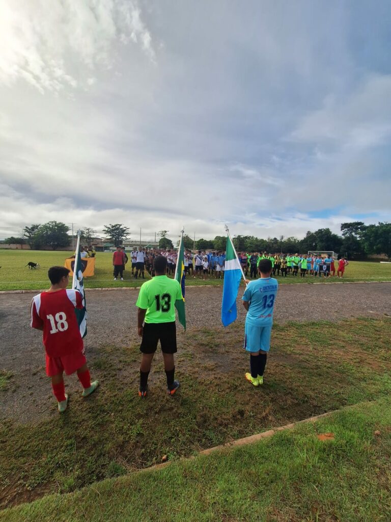
<svg viewBox="0 0 391 522">
<path fill-rule="evenodd" d="M 0 250 L 0 290 L 40 290 L 47 287 L 47 269 L 53 265 L 64 265 L 64 260 L 70 252 L 52 251 L 23 251 Z M 30 270 L 26 265 L 29 261 L 39 263 L 41 268 Z M 149 275 L 145 272 L 146 279 Z M 307 276 L 278 278 L 281 283 L 329 283 L 340 281 L 335 277 L 314 278 Z M 345 271 L 345 282 L 352 281 L 391 281 L 391 264 L 350 262 Z M 104 287 L 137 287 L 142 280 L 131 277 L 130 266 L 125 270 L 125 281 L 113 280 L 112 254 L 99 253 L 95 262 L 94 277 L 85 279 L 86 288 Z M 194 279 L 188 277 L 186 284 L 222 284 L 221 280 L 214 278 Z"/>
</svg>

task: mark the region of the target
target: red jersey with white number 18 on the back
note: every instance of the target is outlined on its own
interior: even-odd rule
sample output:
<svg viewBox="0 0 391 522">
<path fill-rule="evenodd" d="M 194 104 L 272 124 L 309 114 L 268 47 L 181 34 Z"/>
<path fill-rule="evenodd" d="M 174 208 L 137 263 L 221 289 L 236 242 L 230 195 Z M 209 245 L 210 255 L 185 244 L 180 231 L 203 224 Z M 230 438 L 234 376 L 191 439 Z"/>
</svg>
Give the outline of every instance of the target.
<svg viewBox="0 0 391 522">
<path fill-rule="evenodd" d="M 77 290 L 42 292 L 31 301 L 32 328 L 43 326 L 43 344 L 49 357 L 63 357 L 83 350 L 75 308 L 82 309 Z"/>
</svg>

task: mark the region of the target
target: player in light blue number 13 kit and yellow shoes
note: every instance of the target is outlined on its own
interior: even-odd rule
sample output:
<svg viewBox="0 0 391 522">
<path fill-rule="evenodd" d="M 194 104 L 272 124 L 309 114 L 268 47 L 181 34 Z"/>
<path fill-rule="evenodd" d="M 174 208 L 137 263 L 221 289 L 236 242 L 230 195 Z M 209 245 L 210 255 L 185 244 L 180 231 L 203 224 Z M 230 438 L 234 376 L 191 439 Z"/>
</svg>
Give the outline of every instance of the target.
<svg viewBox="0 0 391 522">
<path fill-rule="evenodd" d="M 246 379 L 253 386 L 263 384 L 272 335 L 274 300 L 278 290 L 277 279 L 271 277 L 271 260 L 262 259 L 258 269 L 260 279 L 250 281 L 242 297 L 243 306 L 247 310 L 244 348 L 250 353 L 251 370 L 246 373 Z"/>
</svg>

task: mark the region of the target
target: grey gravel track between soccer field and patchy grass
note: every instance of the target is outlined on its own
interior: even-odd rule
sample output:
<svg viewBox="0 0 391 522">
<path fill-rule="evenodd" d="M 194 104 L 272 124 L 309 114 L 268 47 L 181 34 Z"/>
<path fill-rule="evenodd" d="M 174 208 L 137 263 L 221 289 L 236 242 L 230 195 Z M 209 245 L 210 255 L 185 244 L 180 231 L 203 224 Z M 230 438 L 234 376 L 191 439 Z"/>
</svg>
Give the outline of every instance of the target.
<svg viewBox="0 0 391 522">
<path fill-rule="evenodd" d="M 129 347 L 138 353 L 138 291 L 87 292 L 87 358 L 93 365 L 107 346 Z M 238 298 L 238 323 L 245 311 Z M 391 316 L 391 283 L 290 284 L 281 286 L 276 300 L 274 321 L 337 321 L 349 317 Z M 0 395 L 0 419 L 21 422 L 55 414 L 50 385 L 44 371 L 42 334 L 29 326 L 32 294 L 0 294 L 0 370 L 13 374 Z M 186 294 L 187 333 L 178 326 L 178 346 L 185 335 L 202 329 L 214 329 L 221 339 L 221 287 L 190 287 Z M 205 353 L 205 362 L 213 363 Z M 135 363 L 137 365 L 137 363 Z M 129 369 L 129 371 L 134 371 Z M 135 382 L 137 373 L 135 372 Z M 79 385 L 74 376 L 67 378 L 69 389 Z"/>
</svg>

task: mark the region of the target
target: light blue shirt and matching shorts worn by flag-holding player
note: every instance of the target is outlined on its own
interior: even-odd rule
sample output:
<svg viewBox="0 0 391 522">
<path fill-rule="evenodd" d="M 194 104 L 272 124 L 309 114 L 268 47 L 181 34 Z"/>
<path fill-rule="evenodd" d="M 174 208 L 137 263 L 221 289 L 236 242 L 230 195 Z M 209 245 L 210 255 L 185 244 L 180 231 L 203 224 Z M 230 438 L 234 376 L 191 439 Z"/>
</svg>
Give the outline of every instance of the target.
<svg viewBox="0 0 391 522">
<path fill-rule="evenodd" d="M 250 281 L 242 301 L 250 303 L 245 323 L 245 345 L 248 352 L 270 350 L 277 279 L 265 277 Z"/>
</svg>

